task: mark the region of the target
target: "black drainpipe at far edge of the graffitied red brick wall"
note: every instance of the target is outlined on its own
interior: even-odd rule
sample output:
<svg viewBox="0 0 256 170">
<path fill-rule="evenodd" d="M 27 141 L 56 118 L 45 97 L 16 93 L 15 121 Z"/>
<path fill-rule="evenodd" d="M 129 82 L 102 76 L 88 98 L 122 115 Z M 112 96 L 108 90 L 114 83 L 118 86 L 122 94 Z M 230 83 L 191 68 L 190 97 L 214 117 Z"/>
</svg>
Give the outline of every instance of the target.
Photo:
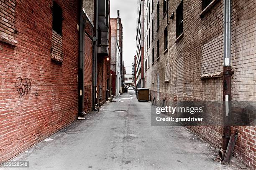
<svg viewBox="0 0 256 170">
<path fill-rule="evenodd" d="M 83 25 L 83 0 L 80 0 L 80 24 L 79 24 L 79 119 L 84 117 L 84 25 Z"/>
</svg>

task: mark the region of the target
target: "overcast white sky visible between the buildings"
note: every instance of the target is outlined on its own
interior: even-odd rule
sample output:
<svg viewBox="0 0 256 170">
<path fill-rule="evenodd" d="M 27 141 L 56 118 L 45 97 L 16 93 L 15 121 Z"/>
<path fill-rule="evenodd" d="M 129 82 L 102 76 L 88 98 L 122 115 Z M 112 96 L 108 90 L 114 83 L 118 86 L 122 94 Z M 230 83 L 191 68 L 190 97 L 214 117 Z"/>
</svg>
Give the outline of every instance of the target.
<svg viewBox="0 0 256 170">
<path fill-rule="evenodd" d="M 110 0 L 110 18 L 120 18 L 123 24 L 123 60 L 127 74 L 132 73 L 132 63 L 136 55 L 136 15 L 137 0 Z"/>
</svg>

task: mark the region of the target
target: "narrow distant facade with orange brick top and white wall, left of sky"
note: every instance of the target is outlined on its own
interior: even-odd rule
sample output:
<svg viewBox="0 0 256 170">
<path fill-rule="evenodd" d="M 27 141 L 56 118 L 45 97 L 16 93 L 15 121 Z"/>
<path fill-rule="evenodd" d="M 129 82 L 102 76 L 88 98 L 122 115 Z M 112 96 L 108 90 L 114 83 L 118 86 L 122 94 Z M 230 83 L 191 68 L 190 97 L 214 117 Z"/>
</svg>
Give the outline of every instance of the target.
<svg viewBox="0 0 256 170">
<path fill-rule="evenodd" d="M 111 18 L 111 94 L 119 95 L 123 92 L 123 25 L 120 12 L 117 18 Z"/>
</svg>

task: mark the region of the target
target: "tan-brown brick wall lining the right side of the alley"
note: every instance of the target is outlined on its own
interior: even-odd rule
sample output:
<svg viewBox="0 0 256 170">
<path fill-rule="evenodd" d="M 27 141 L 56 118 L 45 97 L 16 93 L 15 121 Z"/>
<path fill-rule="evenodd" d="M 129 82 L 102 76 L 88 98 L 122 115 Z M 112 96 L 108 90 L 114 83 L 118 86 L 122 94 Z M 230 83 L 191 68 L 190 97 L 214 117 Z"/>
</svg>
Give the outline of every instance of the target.
<svg viewBox="0 0 256 170">
<path fill-rule="evenodd" d="M 183 0 L 183 33 L 176 40 L 176 9 L 181 0 L 169 1 L 169 15 L 163 16 L 163 1 L 160 2 L 160 28 L 154 22 L 154 40 L 151 43 L 151 22 L 156 21 L 156 5 L 148 22 L 147 37 L 150 30 L 150 48 L 145 50 L 145 60 L 150 56 L 150 68 L 145 72 L 146 87 L 157 98 L 157 75 L 160 79 L 159 100 L 222 100 L 223 80 L 223 1 L 214 0 L 210 10 L 202 12 L 201 0 Z M 151 5 L 151 1 L 149 2 Z M 232 100 L 256 100 L 256 60 L 255 32 L 256 11 L 253 0 L 232 1 Z M 145 16 L 148 14 L 145 7 Z M 174 11 L 174 19 L 170 15 Z M 150 7 L 151 13 L 151 7 Z M 168 51 L 164 53 L 164 29 L 168 28 Z M 146 40 L 146 39 L 145 39 Z M 156 42 L 160 41 L 160 58 L 156 60 Z M 154 65 L 152 48 L 154 47 Z M 148 52 L 147 52 L 148 51 Z M 201 79 L 207 74 L 218 75 L 215 78 Z M 164 82 L 165 80 L 169 80 Z M 221 127 L 190 127 L 202 138 L 220 148 Z M 243 160 L 248 168 L 256 168 L 255 127 L 232 127 L 232 132 L 239 133 L 234 155 Z"/>
</svg>

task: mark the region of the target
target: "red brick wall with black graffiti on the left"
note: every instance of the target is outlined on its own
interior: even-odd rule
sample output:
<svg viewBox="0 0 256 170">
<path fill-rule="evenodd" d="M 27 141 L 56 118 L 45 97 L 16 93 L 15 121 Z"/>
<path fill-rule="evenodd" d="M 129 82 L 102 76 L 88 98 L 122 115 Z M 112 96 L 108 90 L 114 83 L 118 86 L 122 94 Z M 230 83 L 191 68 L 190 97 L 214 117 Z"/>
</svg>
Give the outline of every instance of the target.
<svg viewBox="0 0 256 170">
<path fill-rule="evenodd" d="M 11 0 L 1 0 L 6 6 Z M 65 127 L 78 113 L 79 1 L 62 0 L 63 62 L 51 60 L 52 0 L 16 0 L 16 45 L 0 41 L 0 160 Z M 1 10 L 2 15 L 8 15 Z M 15 16 L 15 18 L 13 18 Z M 5 16 L 4 16 L 5 17 Z M 3 31 L 3 27 L 0 27 Z"/>
</svg>

